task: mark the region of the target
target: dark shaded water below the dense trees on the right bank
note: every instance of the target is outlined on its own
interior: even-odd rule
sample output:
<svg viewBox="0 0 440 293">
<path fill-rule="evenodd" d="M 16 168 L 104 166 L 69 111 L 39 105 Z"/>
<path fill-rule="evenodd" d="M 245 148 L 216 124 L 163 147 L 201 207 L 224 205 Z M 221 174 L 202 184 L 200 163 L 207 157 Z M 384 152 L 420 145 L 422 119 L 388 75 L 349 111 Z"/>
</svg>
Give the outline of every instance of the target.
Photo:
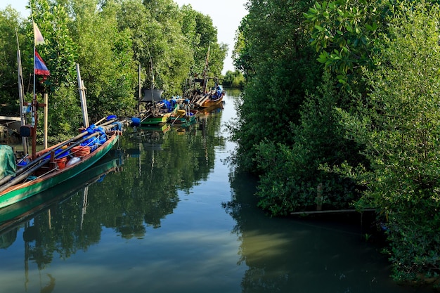
<svg viewBox="0 0 440 293">
<path fill-rule="evenodd" d="M 255 208 L 256 183 L 231 174 L 233 196 L 224 203 L 248 266 L 242 292 L 431 292 L 389 278 L 387 256 L 365 241 L 360 216 L 270 219 Z"/>
</svg>

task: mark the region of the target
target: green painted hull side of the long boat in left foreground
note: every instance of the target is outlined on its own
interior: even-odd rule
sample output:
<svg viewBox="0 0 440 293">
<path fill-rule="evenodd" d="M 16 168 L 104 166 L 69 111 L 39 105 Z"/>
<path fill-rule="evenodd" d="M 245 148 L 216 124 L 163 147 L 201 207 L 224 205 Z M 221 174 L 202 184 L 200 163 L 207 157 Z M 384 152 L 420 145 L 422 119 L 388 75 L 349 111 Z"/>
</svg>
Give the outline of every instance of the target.
<svg viewBox="0 0 440 293">
<path fill-rule="evenodd" d="M 0 208 L 6 207 L 10 204 L 15 204 L 21 200 L 25 200 L 32 195 L 41 193 L 48 188 L 77 176 L 77 174 L 98 162 L 101 157 L 112 149 L 113 145 L 115 145 L 118 139 L 119 134 L 114 134 L 113 136 L 110 136 L 108 141 L 106 141 L 103 145 L 91 152 L 89 155 L 82 157 L 82 160 L 76 164 L 72 164 L 71 166 L 67 166 L 63 169 L 54 171 L 53 173 L 45 176 L 41 176 L 40 178 L 32 181 L 13 185 L 4 190 L 2 193 L 0 193 Z"/>
</svg>

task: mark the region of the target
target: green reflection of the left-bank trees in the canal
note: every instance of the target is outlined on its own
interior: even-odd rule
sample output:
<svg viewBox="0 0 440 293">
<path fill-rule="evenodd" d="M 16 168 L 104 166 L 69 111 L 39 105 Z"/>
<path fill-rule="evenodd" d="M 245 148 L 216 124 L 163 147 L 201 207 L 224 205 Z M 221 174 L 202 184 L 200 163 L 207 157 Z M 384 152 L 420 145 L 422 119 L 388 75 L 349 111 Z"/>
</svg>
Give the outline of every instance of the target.
<svg viewBox="0 0 440 293">
<path fill-rule="evenodd" d="M 119 159 L 124 161 L 121 171 L 107 174 L 99 184 L 89 184 L 84 172 L 41 193 L 51 203 L 32 214 L 32 226 L 24 224 L 25 259 L 39 268 L 51 263 L 55 253 L 67 259 L 99 242 L 103 226 L 124 238 L 143 237 L 146 226 L 160 227 L 179 202 L 178 190 L 189 193 L 214 168 L 216 149 L 225 147 L 224 138 L 215 137 L 220 122 L 219 115 L 212 115 L 203 124 L 173 128 L 156 141 L 162 150 L 127 134 L 120 141 L 121 151 L 113 150 L 124 158 Z M 11 246 L 17 233 L 18 228 L 0 232 L 0 248 Z"/>
</svg>

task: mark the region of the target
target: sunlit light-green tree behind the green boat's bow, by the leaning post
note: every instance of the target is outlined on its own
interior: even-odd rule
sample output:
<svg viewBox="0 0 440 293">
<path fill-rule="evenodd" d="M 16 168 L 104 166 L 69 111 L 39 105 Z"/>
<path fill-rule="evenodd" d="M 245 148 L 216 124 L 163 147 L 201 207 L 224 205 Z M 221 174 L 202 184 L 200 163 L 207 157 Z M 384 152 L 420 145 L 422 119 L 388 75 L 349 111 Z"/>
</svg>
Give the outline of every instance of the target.
<svg viewBox="0 0 440 293">
<path fill-rule="evenodd" d="M 72 2 L 72 28 L 91 122 L 110 114 L 127 115 L 134 108 L 137 75 L 131 34 L 117 29 L 119 6 L 108 2 L 101 11 L 97 7 L 94 0 Z"/>
</svg>

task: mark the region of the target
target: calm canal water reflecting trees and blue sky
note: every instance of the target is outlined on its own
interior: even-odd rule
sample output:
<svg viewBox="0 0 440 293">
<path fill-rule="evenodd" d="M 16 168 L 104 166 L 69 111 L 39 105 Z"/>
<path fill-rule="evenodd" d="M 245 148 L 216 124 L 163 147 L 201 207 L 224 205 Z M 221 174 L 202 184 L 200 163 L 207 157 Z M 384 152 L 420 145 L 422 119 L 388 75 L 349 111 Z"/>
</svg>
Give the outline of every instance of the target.
<svg viewBox="0 0 440 293">
<path fill-rule="evenodd" d="M 0 293 L 429 292 L 389 278 L 359 221 L 271 219 L 226 164 L 224 109 L 129 129 L 74 180 L 0 210 Z"/>
</svg>

